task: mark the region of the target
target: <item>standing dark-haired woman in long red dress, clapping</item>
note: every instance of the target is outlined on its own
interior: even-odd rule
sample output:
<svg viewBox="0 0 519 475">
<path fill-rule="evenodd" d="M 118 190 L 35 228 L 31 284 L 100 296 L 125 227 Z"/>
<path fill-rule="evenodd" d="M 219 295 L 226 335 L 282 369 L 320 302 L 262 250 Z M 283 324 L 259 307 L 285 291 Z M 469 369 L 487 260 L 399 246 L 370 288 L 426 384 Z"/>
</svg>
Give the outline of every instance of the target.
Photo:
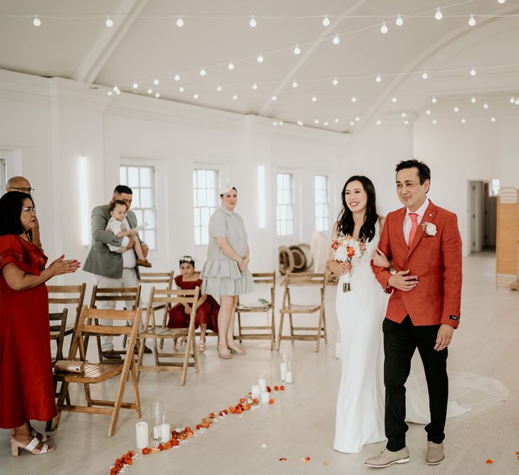
<svg viewBox="0 0 519 475">
<path fill-rule="evenodd" d="M 80 266 L 61 256 L 45 268 L 46 256 L 28 238 L 35 223 L 31 195 L 0 198 L 0 427 L 11 429 L 13 455 L 19 447 L 54 450 L 29 423 L 56 416 L 45 282 Z"/>
</svg>

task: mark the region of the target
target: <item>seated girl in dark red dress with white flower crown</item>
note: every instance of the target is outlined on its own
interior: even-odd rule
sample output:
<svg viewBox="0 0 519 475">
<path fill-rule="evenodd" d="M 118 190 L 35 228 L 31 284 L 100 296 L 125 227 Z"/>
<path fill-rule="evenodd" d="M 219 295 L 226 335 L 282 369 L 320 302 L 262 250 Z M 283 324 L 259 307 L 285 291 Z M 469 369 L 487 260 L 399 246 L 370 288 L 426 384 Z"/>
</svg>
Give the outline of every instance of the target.
<svg viewBox="0 0 519 475">
<path fill-rule="evenodd" d="M 196 286 L 201 288 L 201 278 L 194 273 L 194 259 L 191 256 L 184 256 L 179 261 L 180 275 L 175 277 L 177 288 L 183 290 L 194 290 Z M 194 318 L 194 328 L 200 326 L 200 343 L 198 346 L 199 353 L 206 350 L 206 330 L 212 330 L 218 333 L 218 311 L 220 306 L 211 296 L 200 295 L 196 303 L 196 316 Z M 169 309 L 168 328 L 187 328 L 189 326 L 189 315 L 191 307 L 184 303 L 177 303 L 176 306 Z M 175 351 L 179 351 L 182 343 L 186 340 L 181 337 L 175 343 Z"/>
</svg>

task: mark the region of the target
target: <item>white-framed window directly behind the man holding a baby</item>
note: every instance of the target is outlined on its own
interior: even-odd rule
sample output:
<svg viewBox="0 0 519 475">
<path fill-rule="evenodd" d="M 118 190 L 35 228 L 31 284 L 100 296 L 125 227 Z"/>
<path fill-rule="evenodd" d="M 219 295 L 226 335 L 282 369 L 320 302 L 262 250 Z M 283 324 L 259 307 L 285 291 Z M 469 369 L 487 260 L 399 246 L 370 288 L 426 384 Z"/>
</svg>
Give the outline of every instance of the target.
<svg viewBox="0 0 519 475">
<path fill-rule="evenodd" d="M 157 250 L 157 189 L 155 167 L 145 165 L 121 165 L 120 184 L 132 189 L 132 212 L 137 217 L 137 224 L 145 224 L 139 232 L 150 250 Z"/>
</svg>

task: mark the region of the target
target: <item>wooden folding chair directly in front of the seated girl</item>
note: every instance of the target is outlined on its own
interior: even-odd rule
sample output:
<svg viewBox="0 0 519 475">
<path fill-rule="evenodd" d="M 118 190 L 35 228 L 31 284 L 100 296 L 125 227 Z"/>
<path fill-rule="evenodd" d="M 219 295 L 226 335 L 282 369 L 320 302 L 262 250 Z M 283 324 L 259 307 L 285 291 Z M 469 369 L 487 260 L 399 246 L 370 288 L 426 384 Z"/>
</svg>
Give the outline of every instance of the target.
<svg viewBox="0 0 519 475">
<path fill-rule="evenodd" d="M 187 368 L 189 366 L 194 367 L 196 374 L 199 372 L 198 365 L 198 353 L 196 350 L 196 344 L 194 340 L 194 318 L 196 315 L 196 302 L 199 298 L 199 287 L 196 287 L 194 291 L 184 291 L 182 288 L 177 289 L 155 289 L 152 287 L 150 292 L 150 301 L 148 301 L 148 308 L 146 313 L 146 320 L 144 329 L 139 334 L 140 337 L 140 349 L 139 349 L 139 372 L 141 371 L 170 371 L 170 372 L 182 372 L 182 379 L 180 384 L 183 386 L 186 384 Z M 154 307 L 156 304 L 162 304 L 168 308 L 169 306 L 176 305 L 177 303 L 187 303 L 191 305 L 191 314 L 189 315 L 189 327 L 188 328 L 167 328 L 159 326 L 155 323 Z M 172 340 L 181 336 L 186 337 L 186 345 L 184 353 L 164 353 L 159 352 L 157 348 L 157 340 Z M 151 338 L 153 340 L 153 353 L 155 358 L 154 366 L 143 366 L 142 355 L 144 355 L 144 348 L 146 339 Z M 175 359 L 181 358 L 182 361 L 161 361 L 160 358 Z"/>
</svg>

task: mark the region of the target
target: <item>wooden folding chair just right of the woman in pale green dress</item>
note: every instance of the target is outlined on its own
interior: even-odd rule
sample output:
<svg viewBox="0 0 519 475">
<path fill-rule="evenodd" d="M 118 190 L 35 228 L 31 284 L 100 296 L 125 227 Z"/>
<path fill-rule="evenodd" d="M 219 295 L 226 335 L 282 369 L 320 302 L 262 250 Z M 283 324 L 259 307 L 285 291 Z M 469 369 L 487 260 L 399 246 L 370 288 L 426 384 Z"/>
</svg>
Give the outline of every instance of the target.
<svg viewBox="0 0 519 475">
<path fill-rule="evenodd" d="M 270 301 L 266 299 L 258 299 L 255 303 L 241 304 L 238 300 L 236 313 L 238 313 L 238 340 L 271 340 L 271 351 L 274 349 L 276 342 L 276 328 L 274 322 L 275 304 L 276 304 L 276 272 L 272 273 L 253 273 L 252 278 L 255 284 L 269 284 L 271 286 Z M 242 313 L 266 313 L 267 325 L 248 325 L 241 324 Z M 271 321 L 268 323 L 269 313 Z M 243 333 L 243 330 L 264 330 L 264 333 Z"/>
</svg>

